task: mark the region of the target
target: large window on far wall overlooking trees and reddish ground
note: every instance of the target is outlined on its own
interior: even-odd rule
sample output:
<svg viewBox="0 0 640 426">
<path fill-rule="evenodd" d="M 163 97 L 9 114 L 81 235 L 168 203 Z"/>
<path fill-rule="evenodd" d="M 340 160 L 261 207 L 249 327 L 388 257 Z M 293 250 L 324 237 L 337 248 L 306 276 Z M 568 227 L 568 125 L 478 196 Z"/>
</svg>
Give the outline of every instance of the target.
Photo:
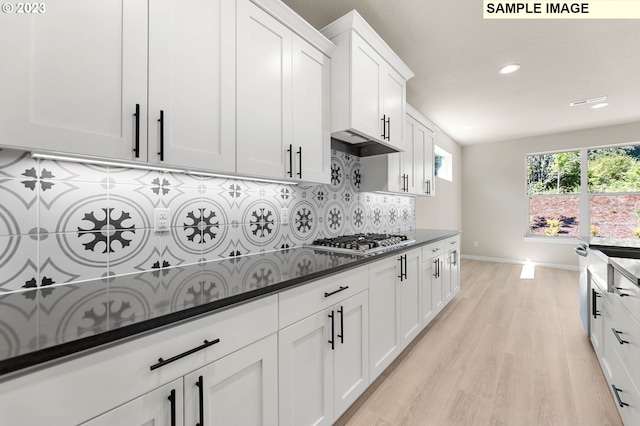
<svg viewBox="0 0 640 426">
<path fill-rule="evenodd" d="M 640 238 L 640 145 L 532 154 L 526 162 L 528 235 Z"/>
</svg>

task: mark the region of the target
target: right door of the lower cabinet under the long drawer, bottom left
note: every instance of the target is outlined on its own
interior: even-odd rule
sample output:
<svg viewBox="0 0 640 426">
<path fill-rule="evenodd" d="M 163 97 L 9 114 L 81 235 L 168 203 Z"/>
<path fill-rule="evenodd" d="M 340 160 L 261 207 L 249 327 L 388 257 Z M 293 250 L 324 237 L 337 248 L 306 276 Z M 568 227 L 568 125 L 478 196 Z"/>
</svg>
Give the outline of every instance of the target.
<svg viewBox="0 0 640 426">
<path fill-rule="evenodd" d="M 277 336 L 184 376 L 184 388 L 187 425 L 277 425 Z"/>
</svg>

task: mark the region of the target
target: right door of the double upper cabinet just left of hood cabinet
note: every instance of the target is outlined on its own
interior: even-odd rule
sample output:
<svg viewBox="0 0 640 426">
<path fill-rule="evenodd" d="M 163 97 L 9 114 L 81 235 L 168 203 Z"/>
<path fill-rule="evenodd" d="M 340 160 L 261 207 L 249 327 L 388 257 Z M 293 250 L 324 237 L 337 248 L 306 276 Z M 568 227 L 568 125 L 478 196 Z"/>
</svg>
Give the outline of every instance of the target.
<svg viewBox="0 0 640 426">
<path fill-rule="evenodd" d="M 294 178 L 329 183 L 331 128 L 330 62 L 311 44 L 293 36 Z"/>
</svg>

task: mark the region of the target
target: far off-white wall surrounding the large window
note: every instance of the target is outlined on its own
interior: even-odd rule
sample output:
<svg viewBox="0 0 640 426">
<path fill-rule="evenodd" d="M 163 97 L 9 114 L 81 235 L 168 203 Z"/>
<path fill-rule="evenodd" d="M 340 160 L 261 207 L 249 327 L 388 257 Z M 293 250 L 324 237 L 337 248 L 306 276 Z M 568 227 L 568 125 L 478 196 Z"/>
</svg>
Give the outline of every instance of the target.
<svg viewBox="0 0 640 426">
<path fill-rule="evenodd" d="M 462 254 L 577 266 L 573 244 L 524 240 L 529 226 L 525 155 L 639 141 L 637 122 L 463 147 Z"/>
</svg>

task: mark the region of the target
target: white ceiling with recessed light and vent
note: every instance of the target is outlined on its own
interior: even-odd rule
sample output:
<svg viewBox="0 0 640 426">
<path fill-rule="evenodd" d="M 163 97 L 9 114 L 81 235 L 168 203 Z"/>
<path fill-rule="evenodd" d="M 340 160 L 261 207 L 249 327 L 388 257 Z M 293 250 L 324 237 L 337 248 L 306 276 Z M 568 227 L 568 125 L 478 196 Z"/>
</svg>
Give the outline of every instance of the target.
<svg viewBox="0 0 640 426">
<path fill-rule="evenodd" d="M 640 20 L 484 20 L 481 0 L 283 1 L 318 29 L 356 9 L 415 72 L 407 101 L 462 145 L 640 121 Z M 510 63 L 522 68 L 499 75 Z M 569 107 L 599 96 L 611 104 Z"/>
</svg>

